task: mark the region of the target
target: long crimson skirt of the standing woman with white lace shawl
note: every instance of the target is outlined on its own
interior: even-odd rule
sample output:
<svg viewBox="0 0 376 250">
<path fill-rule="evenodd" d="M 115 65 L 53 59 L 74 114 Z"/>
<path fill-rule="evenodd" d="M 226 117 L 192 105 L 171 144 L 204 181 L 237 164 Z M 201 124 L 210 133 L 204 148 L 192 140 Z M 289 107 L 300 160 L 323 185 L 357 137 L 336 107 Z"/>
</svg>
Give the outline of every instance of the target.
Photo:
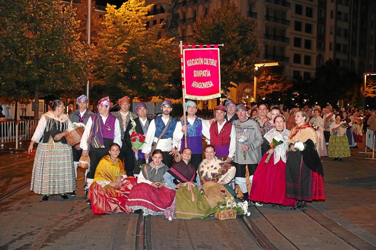
<svg viewBox="0 0 376 250">
<path fill-rule="evenodd" d="M 249 200 L 285 206 L 295 205 L 294 199 L 286 198 L 286 163 L 279 160 L 274 165 L 274 154 L 271 155 L 269 162 L 265 163 L 267 156 L 268 154 L 264 154 L 253 175 Z"/>
</svg>

